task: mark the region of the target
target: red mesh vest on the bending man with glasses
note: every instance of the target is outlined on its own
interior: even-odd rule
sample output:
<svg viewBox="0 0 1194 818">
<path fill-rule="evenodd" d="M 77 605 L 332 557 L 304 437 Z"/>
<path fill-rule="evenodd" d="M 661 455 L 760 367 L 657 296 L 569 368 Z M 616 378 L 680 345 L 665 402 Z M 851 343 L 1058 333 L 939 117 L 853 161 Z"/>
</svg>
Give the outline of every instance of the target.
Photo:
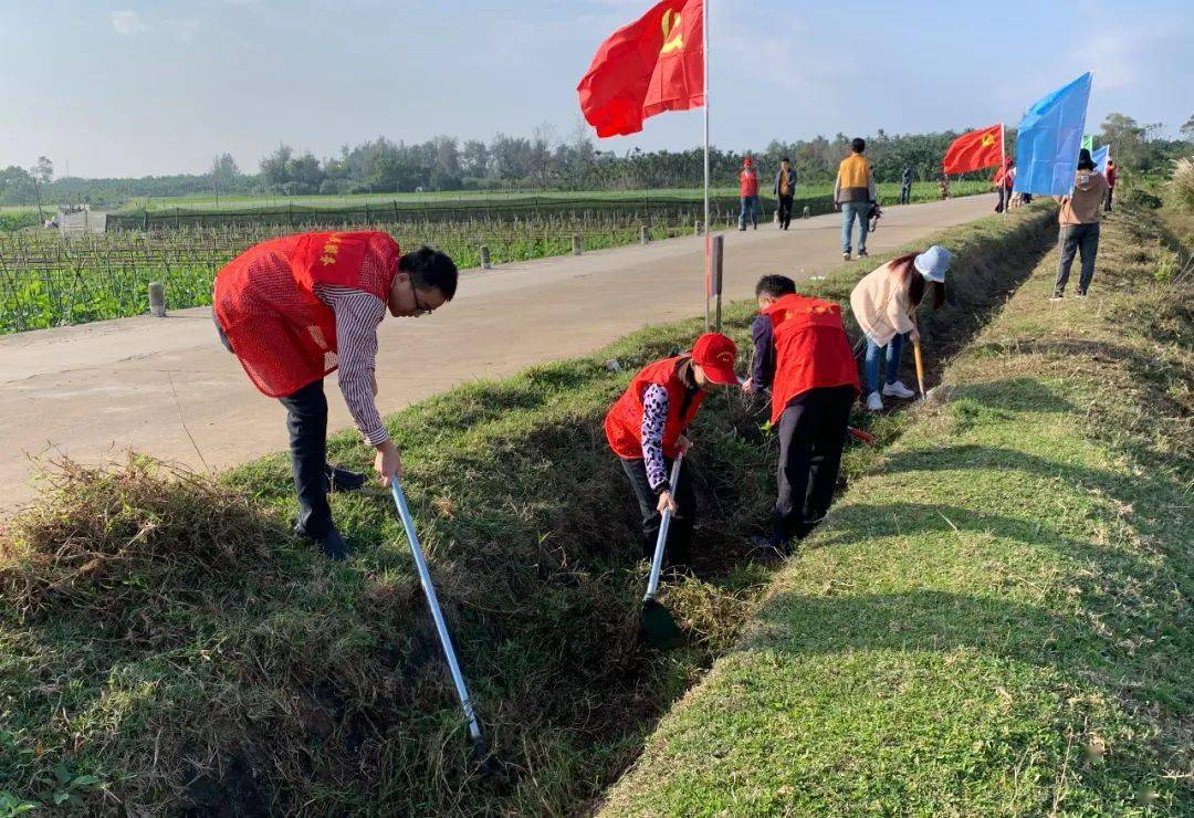
<svg viewBox="0 0 1194 818">
<path fill-rule="evenodd" d="M 399 256 L 386 233 L 300 233 L 229 262 L 216 275 L 213 306 L 253 385 L 281 398 L 334 370 L 336 314 L 315 285 L 352 287 L 386 301 Z"/>
</svg>

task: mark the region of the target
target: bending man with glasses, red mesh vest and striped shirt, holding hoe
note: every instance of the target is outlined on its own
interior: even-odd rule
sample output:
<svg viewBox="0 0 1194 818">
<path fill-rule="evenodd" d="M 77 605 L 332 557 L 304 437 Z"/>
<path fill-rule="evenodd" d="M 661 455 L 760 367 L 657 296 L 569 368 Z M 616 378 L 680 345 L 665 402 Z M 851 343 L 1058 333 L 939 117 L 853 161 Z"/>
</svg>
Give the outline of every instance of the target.
<svg viewBox="0 0 1194 818">
<path fill-rule="evenodd" d="M 363 474 L 327 465 L 324 377 L 339 368 L 340 390 L 357 429 L 377 450 L 382 485 L 402 473 L 374 401 L 377 325 L 387 309 L 418 318 L 456 294 L 456 265 L 420 247 L 405 256 L 386 233 L 301 233 L 264 241 L 216 275 L 220 340 L 253 385 L 287 408 L 290 466 L 298 493 L 296 533 L 330 558 L 349 548 L 332 523 L 330 490 L 359 488 Z"/>
</svg>

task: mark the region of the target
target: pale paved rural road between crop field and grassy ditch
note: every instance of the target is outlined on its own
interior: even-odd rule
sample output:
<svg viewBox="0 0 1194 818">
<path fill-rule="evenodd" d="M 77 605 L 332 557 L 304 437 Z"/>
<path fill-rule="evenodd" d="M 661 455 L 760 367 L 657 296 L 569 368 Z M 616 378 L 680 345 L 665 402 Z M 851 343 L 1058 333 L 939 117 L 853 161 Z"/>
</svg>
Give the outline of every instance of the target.
<svg viewBox="0 0 1194 818">
<path fill-rule="evenodd" d="M 992 211 L 992 196 L 890 208 L 879 252 Z M 726 234 L 725 295 L 752 295 L 762 273 L 796 279 L 841 264 L 837 215 Z M 433 316 L 381 327 L 378 408 L 476 377 L 591 352 L 650 322 L 703 314 L 702 241 L 670 239 L 470 271 Z M 221 469 L 287 445 L 284 413 L 219 345 L 208 308 L 0 337 L 0 512 L 36 491 L 37 459 L 94 463 L 129 448 Z M 331 428 L 351 418 L 328 379 Z M 193 438 L 193 441 L 191 439 Z M 199 455 L 202 453 L 202 456 Z"/>
</svg>

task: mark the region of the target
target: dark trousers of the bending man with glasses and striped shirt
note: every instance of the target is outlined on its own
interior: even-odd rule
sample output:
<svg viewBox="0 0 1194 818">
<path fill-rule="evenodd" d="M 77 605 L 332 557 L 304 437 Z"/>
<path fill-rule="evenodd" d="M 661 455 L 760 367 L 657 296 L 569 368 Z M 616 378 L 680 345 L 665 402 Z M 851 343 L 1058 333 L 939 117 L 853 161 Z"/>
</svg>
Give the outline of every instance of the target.
<svg viewBox="0 0 1194 818">
<path fill-rule="evenodd" d="M 220 343 L 233 351 L 220 321 Z M 290 432 L 290 473 L 298 493 L 298 528 L 320 539 L 332 530 L 332 509 L 327 504 L 327 395 L 324 381 L 308 383 L 278 401 L 287 407 L 287 431 Z"/>
</svg>

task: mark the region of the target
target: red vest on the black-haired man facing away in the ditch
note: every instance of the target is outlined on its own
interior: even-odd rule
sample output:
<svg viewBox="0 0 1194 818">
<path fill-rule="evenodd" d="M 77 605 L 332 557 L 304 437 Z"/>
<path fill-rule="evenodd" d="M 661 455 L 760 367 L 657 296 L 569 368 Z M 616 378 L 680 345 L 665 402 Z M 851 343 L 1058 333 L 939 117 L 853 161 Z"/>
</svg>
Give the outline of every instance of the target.
<svg viewBox="0 0 1194 818">
<path fill-rule="evenodd" d="M 862 390 L 839 305 L 786 295 L 763 315 L 771 319 L 775 342 L 771 423 L 778 422 L 788 401 L 810 389 L 849 385 Z"/>
</svg>

